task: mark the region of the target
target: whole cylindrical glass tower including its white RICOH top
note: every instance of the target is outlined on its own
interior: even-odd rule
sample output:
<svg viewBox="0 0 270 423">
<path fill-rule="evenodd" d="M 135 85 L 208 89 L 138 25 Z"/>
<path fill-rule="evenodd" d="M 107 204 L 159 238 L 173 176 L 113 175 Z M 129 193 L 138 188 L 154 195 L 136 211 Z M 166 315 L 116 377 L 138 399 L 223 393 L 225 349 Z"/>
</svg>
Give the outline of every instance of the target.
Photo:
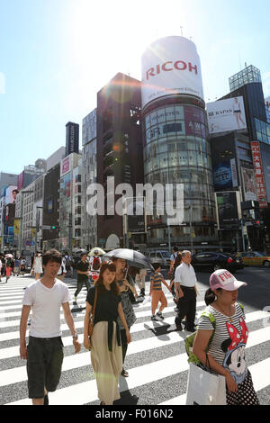
<svg viewBox="0 0 270 423">
<path fill-rule="evenodd" d="M 210 144 L 200 58 L 193 41 L 166 37 L 142 56 L 145 183 L 184 184 L 184 222 L 148 216 L 148 246 L 201 249 L 215 237 Z"/>
</svg>

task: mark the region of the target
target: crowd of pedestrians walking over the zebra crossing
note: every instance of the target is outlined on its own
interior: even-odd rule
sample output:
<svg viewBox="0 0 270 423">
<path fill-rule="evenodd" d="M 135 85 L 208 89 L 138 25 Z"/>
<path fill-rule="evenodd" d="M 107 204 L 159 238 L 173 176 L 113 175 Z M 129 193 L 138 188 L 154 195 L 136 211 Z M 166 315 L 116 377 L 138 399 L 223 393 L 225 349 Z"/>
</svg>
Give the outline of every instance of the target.
<svg viewBox="0 0 270 423">
<path fill-rule="evenodd" d="M 22 259 L 14 260 L 14 270 L 11 271 L 12 266 L 6 262 L 6 257 L 0 257 L 1 275 L 4 275 L 3 268 L 6 277 L 12 272 L 20 274 Z M 81 308 L 85 310 L 83 345 L 91 352 L 98 398 L 102 405 L 112 405 L 120 399 L 119 376 L 129 377 L 124 363 L 131 342 L 130 328 L 136 321 L 133 303 L 139 296 L 143 300 L 149 294 L 151 320 L 166 319 L 163 314 L 167 306 L 163 284 L 172 293 L 176 304 L 175 330 L 195 332 L 193 354 L 202 365 L 208 365 L 211 371 L 224 375 L 227 403 L 257 404 L 257 395 L 245 363 L 244 349 L 248 335 L 245 313 L 237 303 L 238 288 L 244 283 L 239 283 L 228 271 L 212 274 L 210 289 L 205 294 L 207 312 L 200 318 L 199 326 L 195 327 L 198 290 L 191 263 L 190 251 L 180 252 L 174 247 L 169 284 L 160 272 L 160 265 L 152 263 L 149 293 L 146 293 L 147 270 L 131 268 L 125 259 L 112 257 L 107 261 L 101 259 L 98 251 L 94 251 L 89 258 L 83 252 L 75 265 L 71 257 L 62 256 L 57 250 L 49 250 L 43 256 L 38 253 L 31 266 L 31 275 L 36 280 L 25 289 L 20 325 L 20 356 L 27 360 L 32 403 L 49 404 L 48 392 L 55 391 L 58 386 L 64 356 L 60 330 L 61 307 L 73 338 L 75 353 L 81 349 L 69 308 L 70 294 L 63 277 L 73 266 L 77 275 L 73 305 L 79 307 L 77 296 L 84 285 L 87 291 L 85 308 Z M 26 329 L 31 309 L 27 345 Z M 209 311 L 217 322 L 214 329 L 207 318 Z M 241 342 L 235 346 L 238 338 Z"/>
</svg>

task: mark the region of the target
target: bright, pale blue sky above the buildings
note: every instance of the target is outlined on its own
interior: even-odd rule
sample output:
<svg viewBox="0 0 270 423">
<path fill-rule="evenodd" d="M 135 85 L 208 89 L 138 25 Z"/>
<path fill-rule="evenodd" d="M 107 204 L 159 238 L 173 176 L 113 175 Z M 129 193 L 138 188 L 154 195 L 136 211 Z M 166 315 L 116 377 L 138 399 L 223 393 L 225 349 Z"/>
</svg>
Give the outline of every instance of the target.
<svg viewBox="0 0 270 423">
<path fill-rule="evenodd" d="M 117 72 L 140 79 L 144 49 L 181 26 L 206 103 L 245 62 L 270 95 L 269 15 L 268 0 L 0 0 L 0 171 L 21 173 L 65 145 L 67 121 L 81 127 Z"/>
</svg>

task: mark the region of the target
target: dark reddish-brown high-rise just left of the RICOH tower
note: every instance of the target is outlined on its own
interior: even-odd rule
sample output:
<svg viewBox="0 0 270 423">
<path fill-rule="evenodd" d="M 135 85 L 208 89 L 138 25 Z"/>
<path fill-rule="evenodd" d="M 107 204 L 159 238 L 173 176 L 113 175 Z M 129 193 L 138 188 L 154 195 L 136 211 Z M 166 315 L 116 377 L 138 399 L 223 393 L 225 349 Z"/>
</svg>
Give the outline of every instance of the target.
<svg viewBox="0 0 270 423">
<path fill-rule="evenodd" d="M 107 178 L 114 177 L 114 187 L 127 183 L 136 192 L 143 184 L 143 158 L 140 116 L 140 82 L 118 73 L 97 94 L 96 159 L 97 182 L 103 184 L 104 215 L 97 220 L 98 243 L 104 247 L 123 245 L 123 217 L 107 210 Z M 121 194 L 115 195 L 115 202 Z M 132 241 L 132 238 L 130 239 Z M 134 244 L 145 241 L 143 234 L 134 235 Z"/>
</svg>

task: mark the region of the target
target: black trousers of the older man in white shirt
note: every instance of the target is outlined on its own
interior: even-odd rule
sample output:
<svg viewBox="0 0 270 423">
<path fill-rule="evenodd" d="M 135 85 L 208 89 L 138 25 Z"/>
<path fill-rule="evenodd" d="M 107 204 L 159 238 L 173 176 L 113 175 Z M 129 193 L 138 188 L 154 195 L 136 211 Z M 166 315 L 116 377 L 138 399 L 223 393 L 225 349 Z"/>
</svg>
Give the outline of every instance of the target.
<svg viewBox="0 0 270 423">
<path fill-rule="evenodd" d="M 181 289 L 184 293 L 184 297 L 179 298 L 177 303 L 177 316 L 175 317 L 175 325 L 181 328 L 181 322 L 186 316 L 186 329 L 194 328 L 194 320 L 196 316 L 196 292 L 195 288 L 188 288 L 187 286 L 181 285 Z"/>
</svg>

